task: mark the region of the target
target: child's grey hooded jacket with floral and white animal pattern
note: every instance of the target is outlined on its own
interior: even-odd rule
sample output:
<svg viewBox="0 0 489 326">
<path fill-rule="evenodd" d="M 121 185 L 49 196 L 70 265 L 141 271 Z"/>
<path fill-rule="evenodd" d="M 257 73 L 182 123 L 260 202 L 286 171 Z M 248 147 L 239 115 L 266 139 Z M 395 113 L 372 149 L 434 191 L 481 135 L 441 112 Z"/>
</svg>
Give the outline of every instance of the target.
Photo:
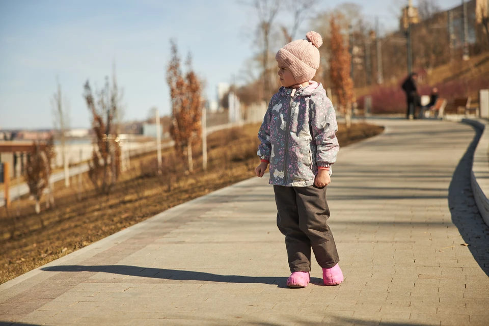
<svg viewBox="0 0 489 326">
<path fill-rule="evenodd" d="M 306 187 L 318 167 L 336 161 L 338 124 L 321 84 L 300 89 L 281 87 L 270 100 L 258 132 L 257 155 L 270 162 L 270 184 Z M 330 169 L 331 174 L 331 169 Z"/>
</svg>

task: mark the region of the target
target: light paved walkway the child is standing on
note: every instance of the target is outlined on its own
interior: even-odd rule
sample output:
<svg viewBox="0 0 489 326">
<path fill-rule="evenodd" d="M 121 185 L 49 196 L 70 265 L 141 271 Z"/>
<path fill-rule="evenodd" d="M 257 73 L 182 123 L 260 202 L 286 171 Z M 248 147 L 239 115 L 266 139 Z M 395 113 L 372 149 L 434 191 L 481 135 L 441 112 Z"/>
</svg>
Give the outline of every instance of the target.
<svg viewBox="0 0 489 326">
<path fill-rule="evenodd" d="M 0 320 L 76 325 L 487 325 L 489 229 L 476 132 L 386 120 L 340 151 L 328 189 L 345 282 L 288 289 L 273 189 L 250 179 L 0 285 Z M 468 243 L 470 246 L 460 246 Z"/>
</svg>

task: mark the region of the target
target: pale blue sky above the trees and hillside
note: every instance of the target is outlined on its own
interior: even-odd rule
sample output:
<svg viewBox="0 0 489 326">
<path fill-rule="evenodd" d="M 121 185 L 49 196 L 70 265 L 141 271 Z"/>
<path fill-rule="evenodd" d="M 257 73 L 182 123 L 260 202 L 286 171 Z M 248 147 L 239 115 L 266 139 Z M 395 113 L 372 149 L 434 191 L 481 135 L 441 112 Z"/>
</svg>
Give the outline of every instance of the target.
<svg viewBox="0 0 489 326">
<path fill-rule="evenodd" d="M 367 18 L 379 15 L 384 30 L 395 29 L 393 2 L 353 0 Z M 416 4 L 415 0 L 415 4 Z M 124 89 L 125 120 L 145 119 L 156 106 L 170 114 L 166 66 L 170 38 L 176 38 L 183 58 L 191 51 L 194 68 L 206 80 L 205 95 L 215 97 L 215 85 L 241 80 L 247 59 L 256 53 L 253 10 L 237 0 L 0 0 L 0 128 L 51 128 L 51 98 L 59 77 L 69 102 L 72 127 L 89 127 L 82 97 L 87 79 L 103 86 L 117 65 Z M 321 1 L 316 11 L 343 3 Z M 443 8 L 459 0 L 440 1 Z M 279 19 L 287 20 L 286 14 Z M 308 30 L 306 21 L 296 35 Z"/>
</svg>

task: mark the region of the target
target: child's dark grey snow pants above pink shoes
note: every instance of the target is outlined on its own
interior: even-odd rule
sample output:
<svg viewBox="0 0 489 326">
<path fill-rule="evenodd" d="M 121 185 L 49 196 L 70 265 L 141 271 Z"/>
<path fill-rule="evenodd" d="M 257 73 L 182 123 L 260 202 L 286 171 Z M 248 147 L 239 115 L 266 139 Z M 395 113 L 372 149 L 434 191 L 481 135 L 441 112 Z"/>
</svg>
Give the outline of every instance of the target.
<svg viewBox="0 0 489 326">
<path fill-rule="evenodd" d="M 326 221 L 330 209 L 326 187 L 285 187 L 274 185 L 277 226 L 285 235 L 290 271 L 311 270 L 311 247 L 322 268 L 338 261 L 336 244 Z"/>
</svg>

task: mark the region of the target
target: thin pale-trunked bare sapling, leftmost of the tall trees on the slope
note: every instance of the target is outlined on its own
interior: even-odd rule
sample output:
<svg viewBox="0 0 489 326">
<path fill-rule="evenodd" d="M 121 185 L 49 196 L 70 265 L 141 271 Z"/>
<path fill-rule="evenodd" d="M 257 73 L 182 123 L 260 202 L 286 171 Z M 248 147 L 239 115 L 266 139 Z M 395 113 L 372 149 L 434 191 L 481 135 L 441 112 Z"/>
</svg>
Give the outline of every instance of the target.
<svg viewBox="0 0 489 326">
<path fill-rule="evenodd" d="M 63 168 L 65 174 L 65 187 L 70 186 L 70 172 L 68 168 L 68 158 L 66 157 L 66 132 L 69 130 L 70 118 L 68 112 L 68 105 L 65 100 L 63 105 L 63 97 L 61 94 L 61 85 L 57 78 L 58 92 L 53 95 L 53 115 L 55 116 L 55 127 L 59 129 L 60 141 L 61 141 L 61 156 L 63 159 Z"/>
</svg>

